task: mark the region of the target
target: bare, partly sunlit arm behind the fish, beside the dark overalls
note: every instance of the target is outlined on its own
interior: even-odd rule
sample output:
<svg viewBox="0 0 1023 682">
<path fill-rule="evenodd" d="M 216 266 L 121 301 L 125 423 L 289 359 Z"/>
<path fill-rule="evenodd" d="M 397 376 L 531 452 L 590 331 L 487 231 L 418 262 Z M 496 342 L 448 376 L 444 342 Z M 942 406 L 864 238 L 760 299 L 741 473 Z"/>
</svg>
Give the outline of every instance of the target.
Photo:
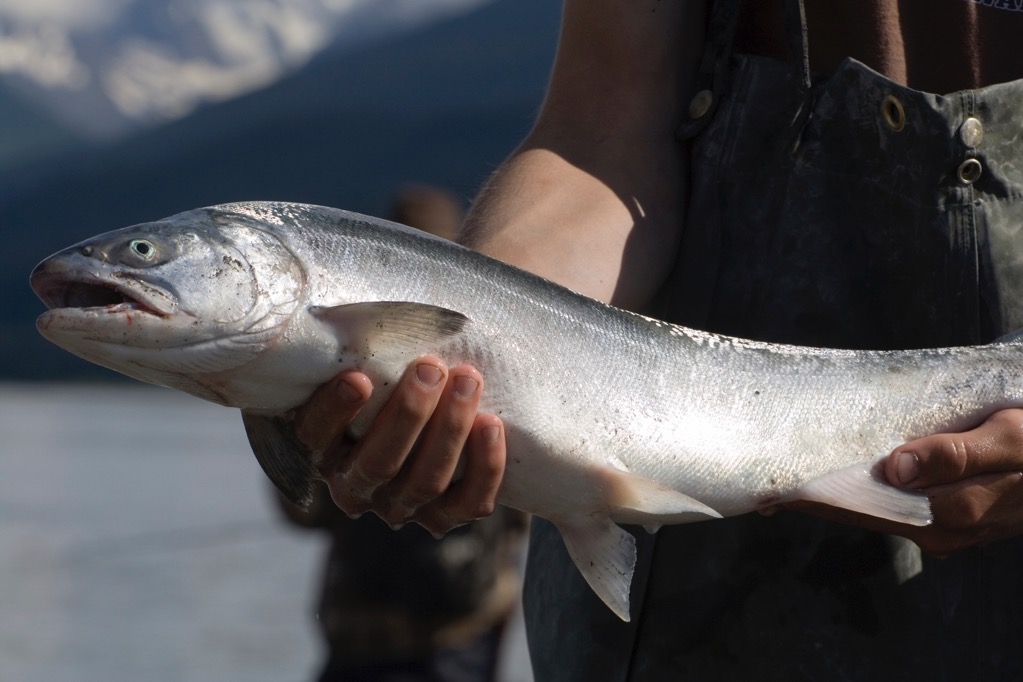
<svg viewBox="0 0 1023 682">
<path fill-rule="evenodd" d="M 686 149 L 674 129 L 703 28 L 701 3 L 651 3 L 660 14 L 640 5 L 567 3 L 537 124 L 480 193 L 461 236 L 630 309 L 644 307 L 675 257 Z"/>
</svg>

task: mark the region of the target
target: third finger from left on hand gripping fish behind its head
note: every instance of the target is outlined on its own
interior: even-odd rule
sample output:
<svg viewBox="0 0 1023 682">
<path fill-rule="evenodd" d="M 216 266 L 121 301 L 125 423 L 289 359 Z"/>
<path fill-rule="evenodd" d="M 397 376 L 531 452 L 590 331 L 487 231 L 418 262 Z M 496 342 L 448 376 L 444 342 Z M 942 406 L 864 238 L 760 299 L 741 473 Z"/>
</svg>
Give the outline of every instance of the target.
<svg viewBox="0 0 1023 682">
<path fill-rule="evenodd" d="M 385 520 L 392 526 L 404 524 L 416 509 L 448 489 L 465 449 L 482 393 L 483 377 L 476 368 L 462 365 L 450 370 L 415 454 L 395 482 L 395 497 Z"/>
</svg>

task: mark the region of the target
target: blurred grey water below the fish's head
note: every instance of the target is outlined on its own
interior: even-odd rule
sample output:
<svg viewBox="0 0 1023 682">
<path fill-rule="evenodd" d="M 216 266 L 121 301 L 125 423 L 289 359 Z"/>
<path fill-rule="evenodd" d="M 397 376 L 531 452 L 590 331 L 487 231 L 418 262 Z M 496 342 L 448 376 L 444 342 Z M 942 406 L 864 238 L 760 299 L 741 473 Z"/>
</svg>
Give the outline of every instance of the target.
<svg viewBox="0 0 1023 682">
<path fill-rule="evenodd" d="M 269 500 L 235 410 L 0 384 L 0 680 L 312 679 L 324 548 Z"/>
</svg>

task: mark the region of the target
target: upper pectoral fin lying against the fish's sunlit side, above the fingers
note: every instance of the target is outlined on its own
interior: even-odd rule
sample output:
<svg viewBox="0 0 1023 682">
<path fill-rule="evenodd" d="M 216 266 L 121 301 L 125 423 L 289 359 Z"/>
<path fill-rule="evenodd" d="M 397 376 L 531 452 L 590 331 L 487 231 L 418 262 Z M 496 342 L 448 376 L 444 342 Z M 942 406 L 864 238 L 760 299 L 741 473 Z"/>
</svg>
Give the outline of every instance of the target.
<svg viewBox="0 0 1023 682">
<path fill-rule="evenodd" d="M 436 344 L 462 330 L 469 318 L 447 308 L 421 303 L 377 301 L 309 312 L 338 333 L 342 353 L 373 356 Z"/>
</svg>

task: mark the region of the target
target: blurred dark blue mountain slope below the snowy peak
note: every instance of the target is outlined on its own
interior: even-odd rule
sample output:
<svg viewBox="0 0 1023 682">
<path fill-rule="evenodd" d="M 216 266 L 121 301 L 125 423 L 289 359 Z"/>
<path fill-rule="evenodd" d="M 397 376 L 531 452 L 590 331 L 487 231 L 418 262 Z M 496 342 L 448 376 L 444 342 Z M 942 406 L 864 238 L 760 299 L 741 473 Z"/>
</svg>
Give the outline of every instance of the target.
<svg viewBox="0 0 1023 682">
<path fill-rule="evenodd" d="M 560 3 L 500 0 L 59 164 L 0 174 L 0 377 L 103 376 L 50 347 L 27 285 L 47 254 L 198 206 L 281 199 L 383 215 L 404 183 L 469 199 L 528 131 Z"/>
</svg>

